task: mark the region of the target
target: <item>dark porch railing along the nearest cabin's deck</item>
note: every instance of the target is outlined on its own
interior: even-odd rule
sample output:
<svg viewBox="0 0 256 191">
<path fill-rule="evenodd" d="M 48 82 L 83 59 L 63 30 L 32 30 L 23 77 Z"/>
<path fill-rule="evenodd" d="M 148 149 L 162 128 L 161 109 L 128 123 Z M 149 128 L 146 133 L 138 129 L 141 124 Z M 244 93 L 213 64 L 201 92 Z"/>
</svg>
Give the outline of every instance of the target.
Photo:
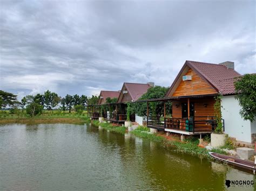
<svg viewBox="0 0 256 191">
<path fill-rule="evenodd" d="M 222 119 L 222 124 L 225 131 L 224 119 Z M 151 116 L 147 120 L 147 125 L 160 129 L 177 129 L 194 133 L 196 131 L 214 131 L 217 122 L 215 116 L 198 116 L 190 117 L 190 119 Z"/>
</svg>

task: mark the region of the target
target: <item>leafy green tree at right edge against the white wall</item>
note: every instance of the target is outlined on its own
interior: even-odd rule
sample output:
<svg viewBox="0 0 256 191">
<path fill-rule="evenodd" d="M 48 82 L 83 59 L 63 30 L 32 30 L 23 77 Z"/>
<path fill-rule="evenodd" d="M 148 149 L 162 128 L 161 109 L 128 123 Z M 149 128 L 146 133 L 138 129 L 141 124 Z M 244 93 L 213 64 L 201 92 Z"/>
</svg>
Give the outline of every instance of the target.
<svg viewBox="0 0 256 191">
<path fill-rule="evenodd" d="M 234 82 L 235 99 L 241 106 L 239 114 L 253 122 L 256 116 L 256 74 L 245 74 Z"/>
</svg>

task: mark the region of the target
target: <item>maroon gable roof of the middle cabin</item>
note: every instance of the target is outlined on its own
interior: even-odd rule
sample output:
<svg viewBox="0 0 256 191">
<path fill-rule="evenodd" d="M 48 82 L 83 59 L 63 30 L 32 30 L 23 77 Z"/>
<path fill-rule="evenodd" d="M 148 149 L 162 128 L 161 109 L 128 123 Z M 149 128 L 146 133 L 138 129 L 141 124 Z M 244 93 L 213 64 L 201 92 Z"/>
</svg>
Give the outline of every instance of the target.
<svg viewBox="0 0 256 191">
<path fill-rule="evenodd" d="M 147 92 L 147 89 L 149 89 L 151 86 L 147 83 L 127 83 L 124 82 L 123 88 L 126 88 L 126 90 L 128 91 L 128 94 L 131 96 L 132 100 L 131 101 L 137 101 L 140 96 L 142 96 L 143 94 L 145 94 Z M 120 93 L 119 97 L 118 97 L 118 101 L 120 99 L 120 96 L 122 96 L 122 92 Z"/>
</svg>

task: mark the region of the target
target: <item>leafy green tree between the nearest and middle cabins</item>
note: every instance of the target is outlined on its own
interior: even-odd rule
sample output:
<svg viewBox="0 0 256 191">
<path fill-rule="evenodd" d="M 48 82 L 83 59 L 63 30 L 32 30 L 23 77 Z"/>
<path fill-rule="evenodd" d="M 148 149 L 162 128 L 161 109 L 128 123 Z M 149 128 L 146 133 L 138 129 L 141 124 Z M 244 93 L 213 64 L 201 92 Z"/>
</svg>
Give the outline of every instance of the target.
<svg viewBox="0 0 256 191">
<path fill-rule="evenodd" d="M 145 94 L 143 94 L 139 100 L 148 100 L 153 98 L 163 98 L 165 94 L 169 90 L 169 87 L 161 87 L 155 86 L 151 87 L 147 90 Z M 150 111 L 152 111 L 153 116 L 161 116 L 164 114 L 164 103 L 163 102 L 150 102 L 149 104 Z M 138 116 L 146 116 L 147 115 L 147 103 L 132 103 L 131 104 L 132 113 L 137 114 Z M 172 112 L 172 103 L 166 102 L 166 114 L 171 114 Z"/>
</svg>

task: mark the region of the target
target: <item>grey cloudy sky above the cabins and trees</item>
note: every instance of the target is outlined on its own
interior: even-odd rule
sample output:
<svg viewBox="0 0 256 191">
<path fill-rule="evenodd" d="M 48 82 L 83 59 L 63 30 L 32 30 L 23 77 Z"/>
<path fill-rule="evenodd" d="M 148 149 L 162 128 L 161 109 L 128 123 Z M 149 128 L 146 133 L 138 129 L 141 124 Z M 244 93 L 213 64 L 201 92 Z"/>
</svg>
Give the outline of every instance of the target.
<svg viewBox="0 0 256 191">
<path fill-rule="evenodd" d="M 256 72 L 255 1 L 0 1 L 0 89 L 170 86 L 186 60 Z"/>
</svg>

